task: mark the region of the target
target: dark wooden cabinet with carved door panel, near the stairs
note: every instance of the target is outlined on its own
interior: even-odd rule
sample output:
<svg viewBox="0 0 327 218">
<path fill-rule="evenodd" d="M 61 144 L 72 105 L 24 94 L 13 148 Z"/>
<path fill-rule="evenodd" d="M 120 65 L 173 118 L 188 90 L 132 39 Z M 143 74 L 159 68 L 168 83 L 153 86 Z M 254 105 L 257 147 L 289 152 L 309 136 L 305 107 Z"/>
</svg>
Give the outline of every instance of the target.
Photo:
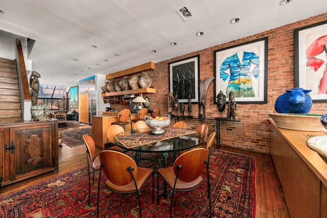
<svg viewBox="0 0 327 218">
<path fill-rule="evenodd" d="M 2 186 L 58 172 L 58 122 L 1 124 L 0 149 Z"/>
</svg>

